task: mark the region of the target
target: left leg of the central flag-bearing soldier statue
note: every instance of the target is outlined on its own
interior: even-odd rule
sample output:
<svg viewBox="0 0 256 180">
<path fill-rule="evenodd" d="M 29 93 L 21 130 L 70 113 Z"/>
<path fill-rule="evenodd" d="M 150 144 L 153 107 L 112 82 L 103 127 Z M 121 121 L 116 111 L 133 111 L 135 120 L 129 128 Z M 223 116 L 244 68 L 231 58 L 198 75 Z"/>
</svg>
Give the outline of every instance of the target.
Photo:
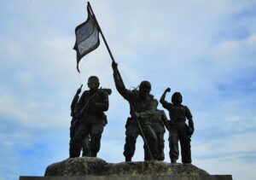
<svg viewBox="0 0 256 180">
<path fill-rule="evenodd" d="M 134 155 L 135 148 L 136 148 L 136 140 L 139 134 L 138 126 L 134 123 L 126 124 L 126 131 L 125 131 L 125 161 L 131 161 L 132 156 Z"/>
</svg>

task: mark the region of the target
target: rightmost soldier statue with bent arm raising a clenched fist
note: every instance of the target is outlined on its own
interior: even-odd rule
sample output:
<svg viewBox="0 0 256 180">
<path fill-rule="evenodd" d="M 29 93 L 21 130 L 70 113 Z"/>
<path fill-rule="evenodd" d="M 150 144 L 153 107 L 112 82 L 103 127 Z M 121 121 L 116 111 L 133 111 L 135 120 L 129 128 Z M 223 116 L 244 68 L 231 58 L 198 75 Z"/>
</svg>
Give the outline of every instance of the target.
<svg viewBox="0 0 256 180">
<path fill-rule="evenodd" d="M 170 138 L 171 162 L 177 162 L 178 149 L 176 148 L 177 142 L 179 140 L 181 146 L 182 162 L 191 163 L 192 160 L 190 138 L 195 131 L 192 114 L 189 111 L 189 107 L 182 105 L 183 96 L 179 92 L 173 93 L 172 103 L 166 102 L 166 93 L 170 91 L 170 88 L 167 88 L 164 91 L 163 95 L 160 98 L 160 103 L 169 111 L 170 119 L 172 122 L 170 130 L 172 133 L 172 136 Z M 189 119 L 189 125 L 185 123 L 186 119 Z"/>
</svg>

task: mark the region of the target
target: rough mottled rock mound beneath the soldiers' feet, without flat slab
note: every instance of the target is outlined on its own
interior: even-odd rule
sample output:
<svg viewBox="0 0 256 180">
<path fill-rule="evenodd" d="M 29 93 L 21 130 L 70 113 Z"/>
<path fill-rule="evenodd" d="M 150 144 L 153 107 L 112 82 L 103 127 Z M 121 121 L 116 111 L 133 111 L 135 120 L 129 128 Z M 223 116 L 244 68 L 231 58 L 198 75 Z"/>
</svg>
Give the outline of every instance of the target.
<svg viewBox="0 0 256 180">
<path fill-rule="evenodd" d="M 98 158 L 71 158 L 49 165 L 44 176 L 85 176 L 85 175 L 209 175 L 190 164 L 170 164 L 161 161 L 139 161 L 129 163 L 107 163 Z"/>
</svg>

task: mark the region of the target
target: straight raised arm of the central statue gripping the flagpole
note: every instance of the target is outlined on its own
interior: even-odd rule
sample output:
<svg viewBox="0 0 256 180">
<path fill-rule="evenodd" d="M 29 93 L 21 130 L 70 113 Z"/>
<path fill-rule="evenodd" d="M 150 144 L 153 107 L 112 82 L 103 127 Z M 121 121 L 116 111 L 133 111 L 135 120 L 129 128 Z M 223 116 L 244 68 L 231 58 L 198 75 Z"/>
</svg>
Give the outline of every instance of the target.
<svg viewBox="0 0 256 180">
<path fill-rule="evenodd" d="M 112 61 L 112 68 L 113 68 L 113 79 L 116 89 L 119 91 L 119 94 L 123 96 L 125 99 L 128 99 L 128 93 L 125 88 L 125 84 L 123 79 L 119 73 L 118 64 Z"/>
</svg>

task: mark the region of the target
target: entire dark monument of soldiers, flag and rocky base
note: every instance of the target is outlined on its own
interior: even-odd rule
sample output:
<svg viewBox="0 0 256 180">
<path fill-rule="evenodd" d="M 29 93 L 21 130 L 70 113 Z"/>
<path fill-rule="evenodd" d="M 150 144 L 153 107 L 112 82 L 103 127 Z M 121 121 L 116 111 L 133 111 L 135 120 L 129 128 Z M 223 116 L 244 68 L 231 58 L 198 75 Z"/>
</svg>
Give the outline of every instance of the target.
<svg viewBox="0 0 256 180">
<path fill-rule="evenodd" d="M 81 86 L 73 99 L 69 158 L 49 165 L 45 170 L 44 177 L 21 176 L 20 180 L 231 180 L 231 175 L 210 175 L 207 171 L 191 164 L 190 138 L 195 127 L 189 107 L 182 104 L 181 93 L 175 92 L 172 95 L 172 102 L 166 102 L 166 93 L 171 91 L 170 88 L 167 88 L 160 98 L 160 103 L 169 112 L 170 120 L 168 120 L 166 115 L 157 109 L 158 102 L 150 94 L 152 87 L 149 81 L 142 81 L 138 90 L 125 88 L 118 64 L 113 59 L 90 3 L 88 3 L 87 11 L 88 19 L 75 29 L 74 49 L 77 51 L 77 69 L 79 71 L 81 58 L 99 46 L 99 34 L 101 34 L 112 59 L 113 80 L 116 89 L 130 105 L 131 117 L 127 119 L 125 125 L 125 162 L 108 163 L 96 158 L 100 150 L 103 127 L 107 124 L 107 116 L 104 112 L 108 111 L 108 96 L 111 94 L 111 90 L 99 88 L 99 78 L 90 76 L 88 78 L 89 90 L 85 90 L 79 98 Z M 188 119 L 189 125 L 186 124 L 186 119 Z M 166 129 L 172 133 L 169 140 L 172 163 L 161 161 L 165 158 L 163 154 L 165 127 L 161 126 L 161 130 L 156 131 L 154 124 L 159 125 L 159 121 L 162 121 Z M 135 151 L 138 135 L 143 137 L 145 161 L 132 162 L 131 158 Z M 89 152 L 80 158 L 82 143 L 88 136 L 90 138 L 90 142 L 87 142 L 89 143 L 87 145 Z M 178 142 L 181 144 L 182 163 L 177 163 Z"/>
</svg>

